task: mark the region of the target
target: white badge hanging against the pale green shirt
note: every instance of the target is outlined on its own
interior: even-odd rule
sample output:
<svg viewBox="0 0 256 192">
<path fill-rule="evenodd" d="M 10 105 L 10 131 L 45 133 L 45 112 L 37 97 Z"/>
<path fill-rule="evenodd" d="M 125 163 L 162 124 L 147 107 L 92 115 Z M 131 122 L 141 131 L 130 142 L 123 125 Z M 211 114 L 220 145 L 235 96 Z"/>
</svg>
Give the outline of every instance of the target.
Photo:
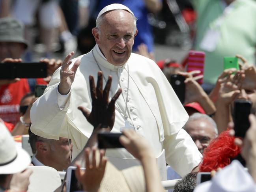
<svg viewBox="0 0 256 192">
<path fill-rule="evenodd" d="M 208 52 L 213 52 L 217 47 L 220 38 L 218 30 L 209 29 L 200 43 L 200 48 Z"/>
</svg>

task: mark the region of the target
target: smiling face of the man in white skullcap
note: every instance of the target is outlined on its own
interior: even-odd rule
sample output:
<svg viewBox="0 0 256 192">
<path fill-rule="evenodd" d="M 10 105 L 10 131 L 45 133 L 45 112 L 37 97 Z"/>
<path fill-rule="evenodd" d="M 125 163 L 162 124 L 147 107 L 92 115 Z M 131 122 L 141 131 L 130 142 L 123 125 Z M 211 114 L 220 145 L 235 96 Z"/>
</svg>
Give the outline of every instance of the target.
<svg viewBox="0 0 256 192">
<path fill-rule="evenodd" d="M 121 66 L 127 62 L 137 34 L 131 13 L 120 9 L 106 13 L 100 31 L 93 28 L 92 33 L 109 63 Z"/>
</svg>

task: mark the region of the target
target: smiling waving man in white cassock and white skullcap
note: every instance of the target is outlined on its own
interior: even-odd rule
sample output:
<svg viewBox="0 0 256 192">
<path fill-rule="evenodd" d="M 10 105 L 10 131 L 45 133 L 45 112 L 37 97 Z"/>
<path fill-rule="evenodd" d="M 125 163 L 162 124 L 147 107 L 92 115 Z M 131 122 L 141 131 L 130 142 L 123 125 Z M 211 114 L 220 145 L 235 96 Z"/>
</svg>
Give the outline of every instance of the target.
<svg viewBox="0 0 256 192">
<path fill-rule="evenodd" d="M 131 53 L 137 32 L 136 18 L 128 7 L 104 7 L 92 29 L 97 44 L 71 61 L 73 53 L 69 54 L 55 71 L 44 95 L 32 106 L 31 130 L 45 138 L 71 138 L 76 157 L 93 130 L 77 107 L 91 110 L 88 77 L 97 78 L 102 71 L 103 86 L 112 76 L 110 97 L 122 89 L 112 132 L 134 129 L 151 144 L 162 176 L 165 161 L 183 176 L 199 164 L 202 155 L 182 129 L 188 115 L 162 71 L 152 60 Z M 137 163 L 123 148 L 107 149 L 106 156 L 120 167 Z"/>
</svg>

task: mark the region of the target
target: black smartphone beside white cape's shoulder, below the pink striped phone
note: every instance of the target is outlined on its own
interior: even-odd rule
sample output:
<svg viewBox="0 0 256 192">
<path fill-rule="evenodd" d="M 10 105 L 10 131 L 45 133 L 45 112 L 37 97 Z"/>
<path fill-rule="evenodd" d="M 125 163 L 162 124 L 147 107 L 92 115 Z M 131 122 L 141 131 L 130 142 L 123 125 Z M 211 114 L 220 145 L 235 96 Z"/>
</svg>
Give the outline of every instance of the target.
<svg viewBox="0 0 256 192">
<path fill-rule="evenodd" d="M 170 78 L 170 84 L 174 89 L 174 92 L 179 98 L 179 101 L 183 104 L 185 101 L 185 77 L 183 75 L 173 74 Z"/>
</svg>

